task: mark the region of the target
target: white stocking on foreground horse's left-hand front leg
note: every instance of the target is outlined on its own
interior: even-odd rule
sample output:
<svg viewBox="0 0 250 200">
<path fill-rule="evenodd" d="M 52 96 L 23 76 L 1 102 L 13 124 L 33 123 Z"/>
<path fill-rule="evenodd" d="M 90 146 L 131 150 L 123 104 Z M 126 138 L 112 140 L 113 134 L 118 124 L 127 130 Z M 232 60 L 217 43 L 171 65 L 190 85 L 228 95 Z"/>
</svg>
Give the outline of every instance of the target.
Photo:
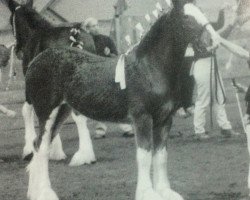
<svg viewBox="0 0 250 200">
<path fill-rule="evenodd" d="M 150 168 L 152 152 L 137 149 L 138 180 L 136 188 L 136 200 L 163 200 L 152 187 Z"/>
</svg>

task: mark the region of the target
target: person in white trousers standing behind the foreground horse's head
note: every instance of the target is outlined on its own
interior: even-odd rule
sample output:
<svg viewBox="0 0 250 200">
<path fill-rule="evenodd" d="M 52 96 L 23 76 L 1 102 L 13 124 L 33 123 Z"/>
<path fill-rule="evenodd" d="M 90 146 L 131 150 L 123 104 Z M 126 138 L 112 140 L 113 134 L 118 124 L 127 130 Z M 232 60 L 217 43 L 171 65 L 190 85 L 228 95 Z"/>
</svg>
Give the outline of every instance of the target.
<svg viewBox="0 0 250 200">
<path fill-rule="evenodd" d="M 218 30 L 221 36 L 228 37 L 230 32 L 236 25 L 225 26 L 224 11 L 227 7 L 223 7 L 219 12 L 219 18 L 216 23 L 211 23 L 215 30 Z M 202 48 L 197 42 L 193 46 L 195 63 L 192 68 L 192 75 L 197 86 L 197 96 L 194 108 L 194 132 L 197 139 L 208 139 L 210 136 L 205 131 L 206 110 L 211 104 L 215 111 L 217 123 L 224 137 L 238 135 L 232 129 L 232 125 L 227 118 L 225 110 L 225 93 L 220 72 L 217 71 L 216 52 L 208 51 Z"/>
</svg>

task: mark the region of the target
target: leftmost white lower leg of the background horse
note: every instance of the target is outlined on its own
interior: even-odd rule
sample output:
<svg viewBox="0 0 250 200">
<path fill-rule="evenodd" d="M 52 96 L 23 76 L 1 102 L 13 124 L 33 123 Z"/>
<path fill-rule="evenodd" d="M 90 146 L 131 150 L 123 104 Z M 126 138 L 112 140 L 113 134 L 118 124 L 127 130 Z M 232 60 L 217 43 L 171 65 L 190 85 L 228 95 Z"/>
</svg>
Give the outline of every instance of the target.
<svg viewBox="0 0 250 200">
<path fill-rule="evenodd" d="M 25 125 L 25 145 L 23 148 L 23 158 L 34 152 L 33 142 L 36 139 L 36 131 L 34 124 L 33 106 L 27 102 L 24 103 L 22 109 L 24 125 Z"/>
</svg>

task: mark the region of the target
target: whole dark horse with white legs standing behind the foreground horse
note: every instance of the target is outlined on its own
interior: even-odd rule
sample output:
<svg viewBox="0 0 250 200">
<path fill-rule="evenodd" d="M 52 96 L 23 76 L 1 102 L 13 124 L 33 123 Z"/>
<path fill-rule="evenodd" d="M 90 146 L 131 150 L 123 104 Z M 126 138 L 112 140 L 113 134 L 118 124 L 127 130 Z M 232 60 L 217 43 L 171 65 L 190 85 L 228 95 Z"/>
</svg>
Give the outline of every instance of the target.
<svg viewBox="0 0 250 200">
<path fill-rule="evenodd" d="M 25 5 L 20 5 L 13 0 L 8 0 L 7 5 L 11 11 L 10 22 L 13 27 L 13 33 L 16 37 L 16 54 L 22 59 L 23 72 L 26 74 L 28 64 L 40 52 L 49 47 L 64 47 L 70 46 L 72 41 L 69 39 L 72 30 L 78 29 L 80 24 L 68 24 L 54 26 L 46 21 L 33 7 L 33 1 L 28 1 Z M 74 33 L 73 33 L 74 34 Z M 82 30 L 78 33 L 77 41 L 82 42 L 82 48 L 96 53 L 95 44 L 90 34 Z M 23 158 L 30 159 L 32 156 L 33 141 L 36 138 L 34 114 L 32 107 L 24 105 L 23 116 L 25 122 L 25 146 L 23 149 Z M 70 165 L 81 165 L 84 163 L 91 163 L 95 161 L 95 155 L 92 148 L 92 141 L 89 137 L 82 137 L 80 127 L 85 121 L 76 121 L 80 146 L 79 150 L 74 154 Z M 62 149 L 60 136 L 54 139 L 51 145 L 50 158 L 54 160 L 61 160 L 65 158 Z"/>
</svg>

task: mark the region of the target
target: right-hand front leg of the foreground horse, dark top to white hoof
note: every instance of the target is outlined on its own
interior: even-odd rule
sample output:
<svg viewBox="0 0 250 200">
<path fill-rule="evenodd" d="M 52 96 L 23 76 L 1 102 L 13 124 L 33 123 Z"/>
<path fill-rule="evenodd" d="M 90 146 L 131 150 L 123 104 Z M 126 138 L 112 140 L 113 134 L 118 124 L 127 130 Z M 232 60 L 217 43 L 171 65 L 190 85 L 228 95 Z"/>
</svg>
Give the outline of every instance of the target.
<svg viewBox="0 0 250 200">
<path fill-rule="evenodd" d="M 170 188 L 167 174 L 167 138 L 172 120 L 165 126 L 154 127 L 153 185 L 164 200 L 183 200 Z"/>
</svg>

